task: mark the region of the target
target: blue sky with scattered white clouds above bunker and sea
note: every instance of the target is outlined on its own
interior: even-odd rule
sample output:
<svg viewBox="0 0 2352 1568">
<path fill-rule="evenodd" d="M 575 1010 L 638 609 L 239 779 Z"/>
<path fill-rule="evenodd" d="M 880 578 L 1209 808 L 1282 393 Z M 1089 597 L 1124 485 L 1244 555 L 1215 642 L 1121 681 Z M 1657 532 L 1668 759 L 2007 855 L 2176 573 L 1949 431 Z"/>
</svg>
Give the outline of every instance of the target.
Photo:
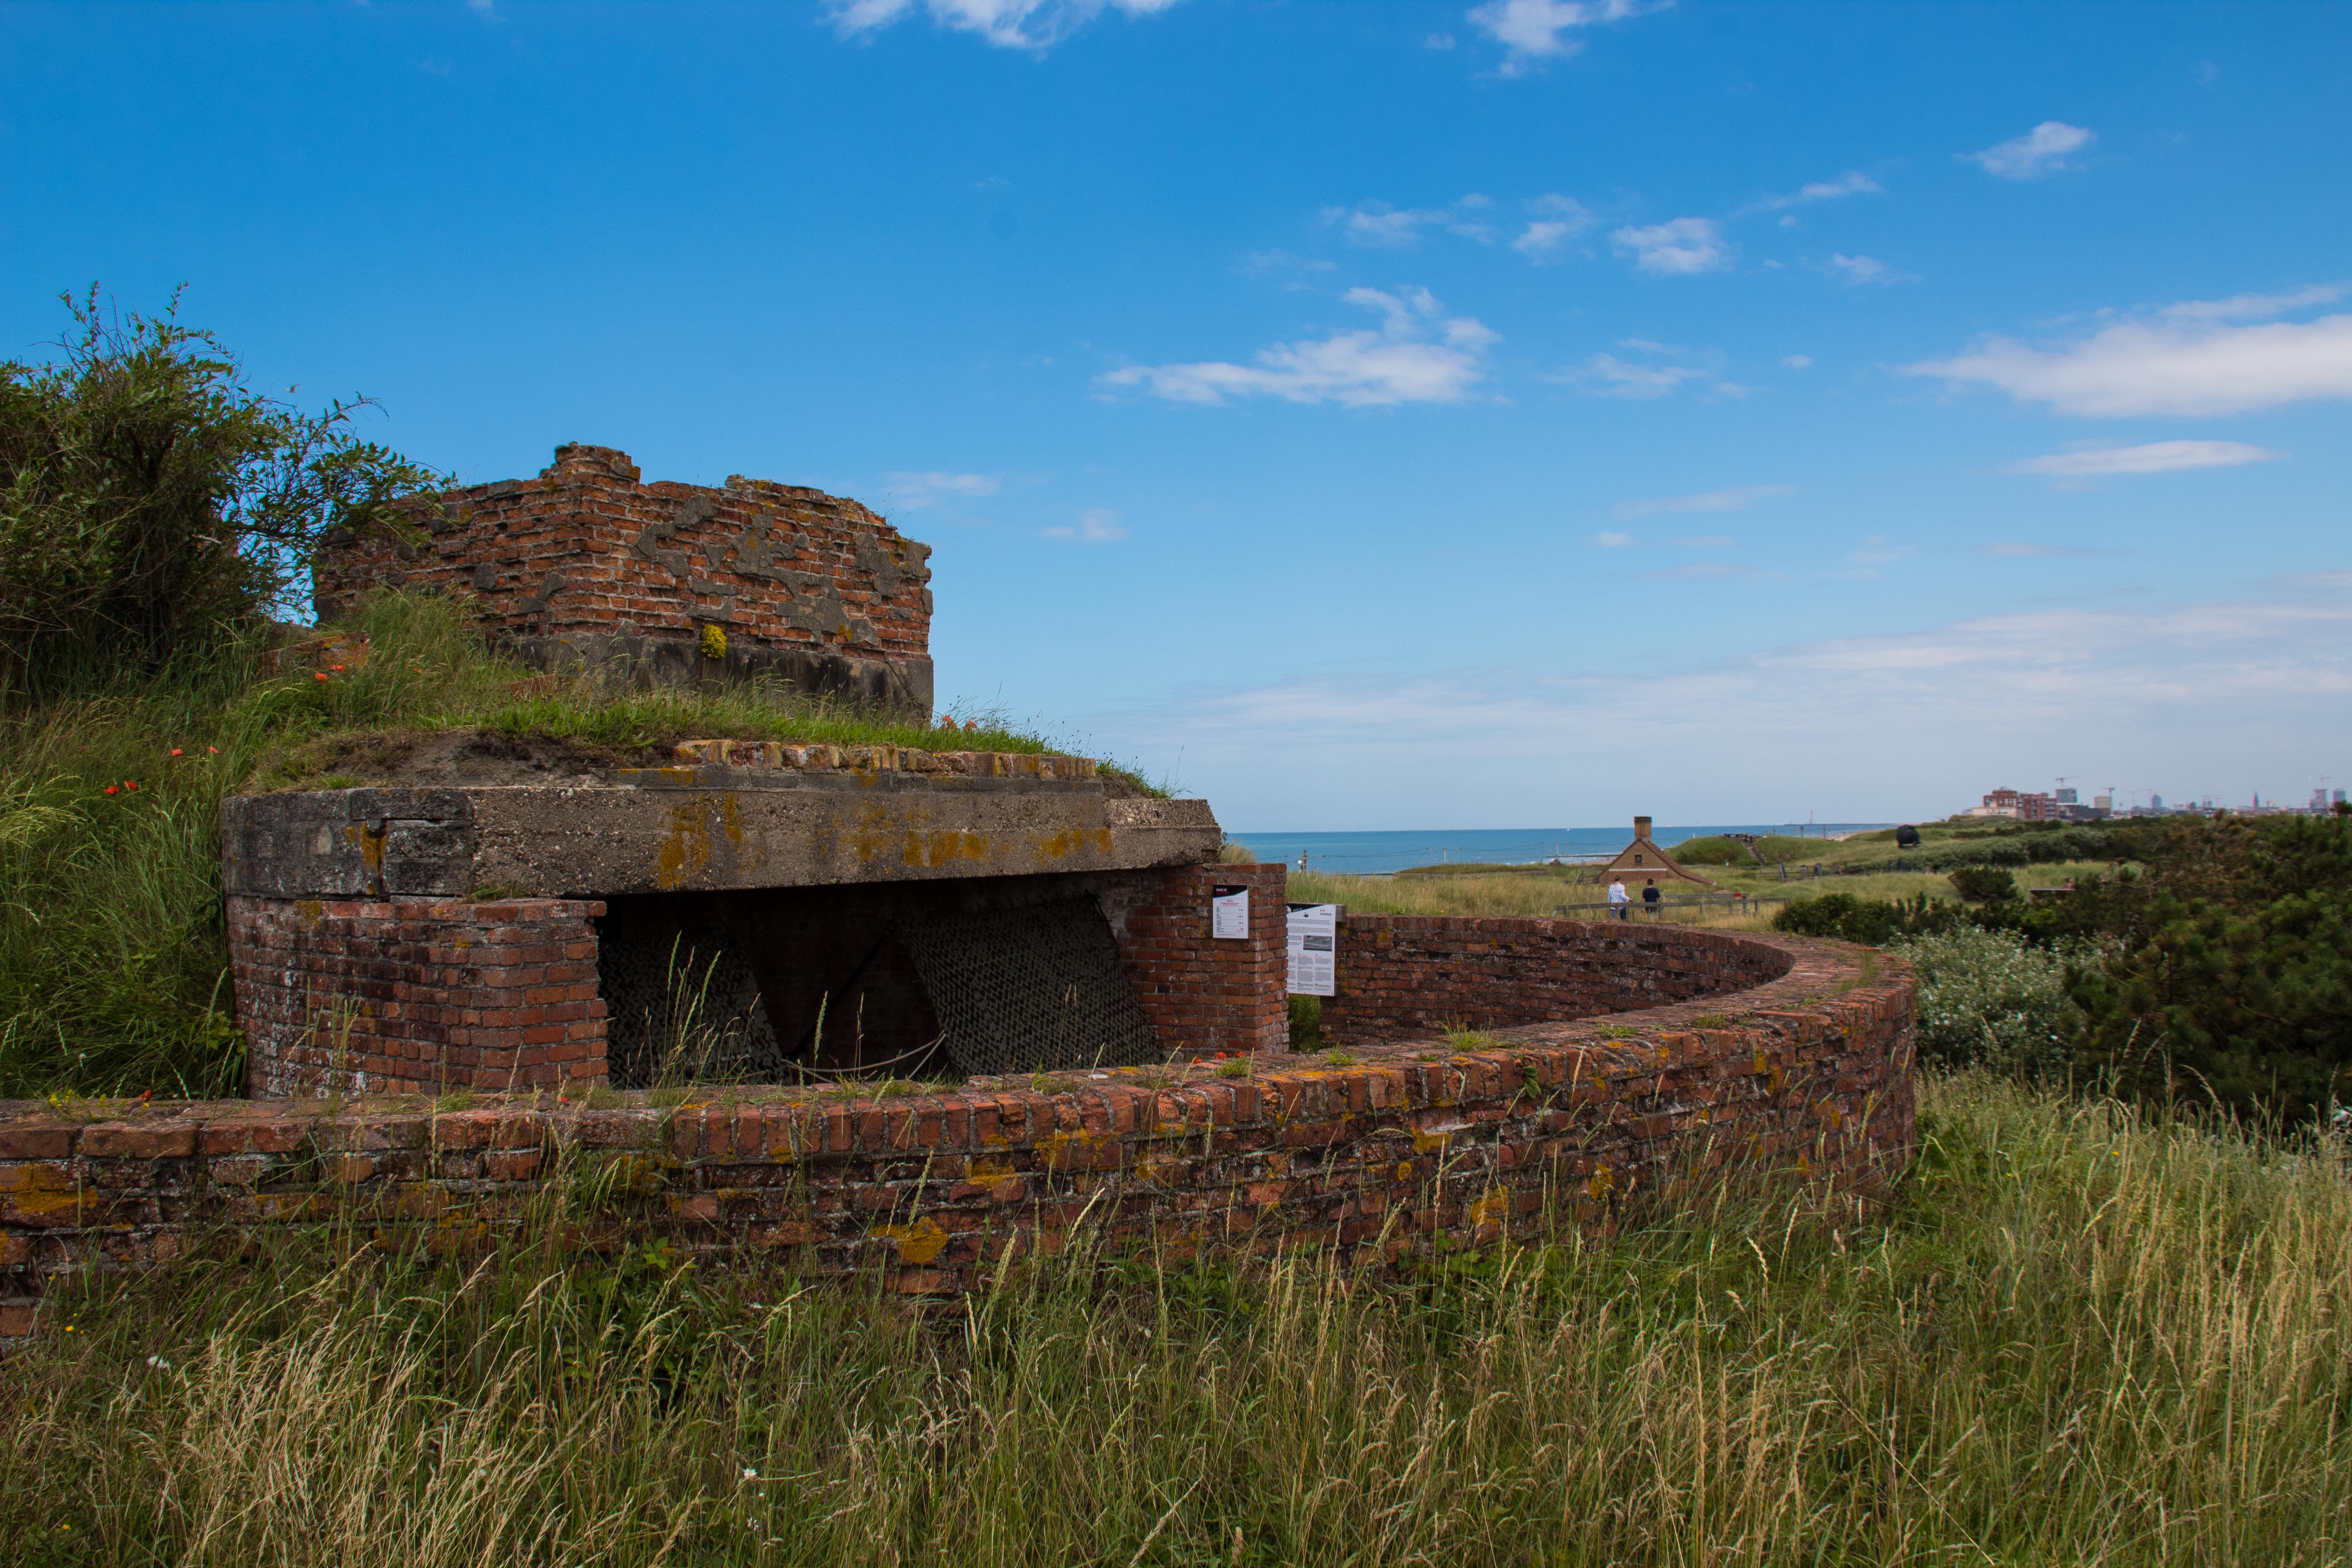
<svg viewBox="0 0 2352 1568">
<path fill-rule="evenodd" d="M 1240 830 L 2352 783 L 2352 7 L 0 5 L 0 353 L 936 545 Z M 953 705 L 953 703 L 950 703 Z"/>
</svg>

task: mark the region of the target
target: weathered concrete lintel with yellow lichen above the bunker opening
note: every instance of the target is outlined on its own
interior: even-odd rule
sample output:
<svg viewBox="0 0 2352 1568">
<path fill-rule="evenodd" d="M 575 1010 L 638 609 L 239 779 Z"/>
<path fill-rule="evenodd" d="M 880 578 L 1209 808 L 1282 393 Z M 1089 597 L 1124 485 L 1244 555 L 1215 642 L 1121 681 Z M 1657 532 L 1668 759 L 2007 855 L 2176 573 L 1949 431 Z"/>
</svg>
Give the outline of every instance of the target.
<svg viewBox="0 0 2352 1568">
<path fill-rule="evenodd" d="M 275 898 L 600 898 L 1214 860 L 1209 802 L 1101 783 L 659 769 L 649 788 L 306 790 L 223 804 L 223 882 Z"/>
</svg>

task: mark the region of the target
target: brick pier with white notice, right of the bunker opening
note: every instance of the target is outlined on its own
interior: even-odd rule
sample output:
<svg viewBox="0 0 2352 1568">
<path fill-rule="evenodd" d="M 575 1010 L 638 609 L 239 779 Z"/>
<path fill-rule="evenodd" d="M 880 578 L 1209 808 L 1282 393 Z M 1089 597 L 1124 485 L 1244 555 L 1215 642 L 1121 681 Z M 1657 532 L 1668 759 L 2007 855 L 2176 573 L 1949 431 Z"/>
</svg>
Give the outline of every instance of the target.
<svg viewBox="0 0 2352 1568">
<path fill-rule="evenodd" d="M 1105 896 L 1103 914 L 1160 1044 L 1185 1056 L 1289 1044 L 1284 867 L 1183 865 L 1143 882 L 1145 893 Z M 1249 940 L 1209 936 L 1218 884 L 1249 889 Z"/>
</svg>

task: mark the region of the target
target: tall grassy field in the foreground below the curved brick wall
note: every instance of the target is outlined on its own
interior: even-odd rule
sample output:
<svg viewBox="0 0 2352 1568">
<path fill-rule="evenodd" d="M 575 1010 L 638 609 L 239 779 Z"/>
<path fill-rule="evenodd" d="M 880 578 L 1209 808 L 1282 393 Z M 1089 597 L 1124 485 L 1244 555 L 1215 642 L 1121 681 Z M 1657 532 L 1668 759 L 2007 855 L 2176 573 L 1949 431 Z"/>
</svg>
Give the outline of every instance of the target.
<svg viewBox="0 0 2352 1568">
<path fill-rule="evenodd" d="M 1414 1279 L 1075 1255 L 913 1309 L 562 1215 L 66 1284 L 42 1563 L 2340 1563 L 2340 1150 L 1985 1077 L 1898 1201 L 1719 1194 Z"/>
</svg>

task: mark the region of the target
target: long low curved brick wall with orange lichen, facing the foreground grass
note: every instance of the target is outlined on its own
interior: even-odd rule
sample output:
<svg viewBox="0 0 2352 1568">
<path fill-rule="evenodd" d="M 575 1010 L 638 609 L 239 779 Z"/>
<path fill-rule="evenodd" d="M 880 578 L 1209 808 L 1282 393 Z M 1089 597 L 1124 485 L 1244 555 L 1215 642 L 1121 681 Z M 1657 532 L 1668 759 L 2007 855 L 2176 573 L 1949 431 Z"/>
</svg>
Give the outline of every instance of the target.
<svg viewBox="0 0 2352 1568">
<path fill-rule="evenodd" d="M 1877 1192 L 1915 1145 L 1910 971 L 1832 943 L 1689 936 L 1778 950 L 1788 971 L 1618 1013 L 1625 1034 L 1543 1023 L 1468 1051 L 1364 1046 L 1355 1065 L 1268 1053 L 1230 1079 L 1117 1070 L 675 1107 L 0 1105 L 14 1291 L 0 1335 L 26 1333 L 61 1274 L 301 1225 L 466 1248 L 581 1192 L 609 1194 L 569 1215 L 602 1237 L 779 1251 L 809 1274 L 877 1269 L 913 1293 L 976 1286 L 1007 1248 L 1058 1251 L 1080 1225 L 1178 1258 L 1327 1248 L 1378 1265 L 1439 1237 L 1613 1225 L 1736 1168 Z M 600 1168 L 616 1180 L 569 1180 Z"/>
</svg>

